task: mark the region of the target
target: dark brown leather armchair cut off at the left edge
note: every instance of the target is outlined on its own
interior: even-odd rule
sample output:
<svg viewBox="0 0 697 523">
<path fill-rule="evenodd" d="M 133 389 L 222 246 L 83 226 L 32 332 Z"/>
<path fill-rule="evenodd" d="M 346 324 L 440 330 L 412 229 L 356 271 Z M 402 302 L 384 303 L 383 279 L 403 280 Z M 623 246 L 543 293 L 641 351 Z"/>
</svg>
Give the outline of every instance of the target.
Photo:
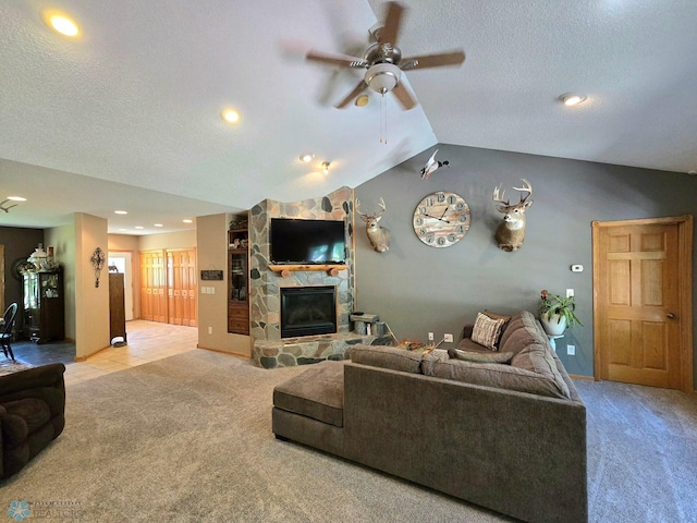
<svg viewBox="0 0 697 523">
<path fill-rule="evenodd" d="M 0 481 L 16 474 L 65 425 L 65 365 L 0 376 Z"/>
</svg>

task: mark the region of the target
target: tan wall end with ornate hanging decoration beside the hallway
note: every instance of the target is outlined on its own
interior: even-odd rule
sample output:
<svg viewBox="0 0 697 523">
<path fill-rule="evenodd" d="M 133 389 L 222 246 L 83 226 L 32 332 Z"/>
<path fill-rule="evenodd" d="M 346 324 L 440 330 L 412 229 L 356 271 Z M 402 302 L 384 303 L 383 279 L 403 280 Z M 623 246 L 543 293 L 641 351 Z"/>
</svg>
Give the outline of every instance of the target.
<svg viewBox="0 0 697 523">
<path fill-rule="evenodd" d="M 107 220 L 75 214 L 75 358 L 84 360 L 109 346 L 109 270 L 105 264 L 99 287 L 89 258 L 100 247 L 107 255 Z"/>
</svg>

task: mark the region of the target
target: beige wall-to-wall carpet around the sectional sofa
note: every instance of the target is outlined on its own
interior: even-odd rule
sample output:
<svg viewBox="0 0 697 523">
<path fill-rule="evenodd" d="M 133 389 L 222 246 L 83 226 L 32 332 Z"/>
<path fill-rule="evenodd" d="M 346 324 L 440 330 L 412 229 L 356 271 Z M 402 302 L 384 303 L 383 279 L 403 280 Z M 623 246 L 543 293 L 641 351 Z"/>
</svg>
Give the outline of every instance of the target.
<svg viewBox="0 0 697 523">
<path fill-rule="evenodd" d="M 0 483 L 0 511 L 27 501 L 37 518 L 66 522 L 514 521 L 277 440 L 273 387 L 303 370 L 193 350 L 72 385 L 64 433 Z M 577 386 L 590 521 L 696 522 L 694 394 Z"/>
</svg>

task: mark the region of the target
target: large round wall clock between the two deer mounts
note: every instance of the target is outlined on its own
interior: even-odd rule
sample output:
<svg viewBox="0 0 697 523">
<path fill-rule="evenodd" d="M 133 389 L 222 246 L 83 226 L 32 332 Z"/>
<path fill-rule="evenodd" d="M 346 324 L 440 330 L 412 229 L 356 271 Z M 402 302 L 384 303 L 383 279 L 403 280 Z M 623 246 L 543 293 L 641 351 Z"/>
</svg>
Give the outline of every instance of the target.
<svg viewBox="0 0 697 523">
<path fill-rule="evenodd" d="M 429 194 L 414 209 L 414 232 L 429 247 L 450 247 L 469 230 L 469 206 L 455 193 Z"/>
</svg>

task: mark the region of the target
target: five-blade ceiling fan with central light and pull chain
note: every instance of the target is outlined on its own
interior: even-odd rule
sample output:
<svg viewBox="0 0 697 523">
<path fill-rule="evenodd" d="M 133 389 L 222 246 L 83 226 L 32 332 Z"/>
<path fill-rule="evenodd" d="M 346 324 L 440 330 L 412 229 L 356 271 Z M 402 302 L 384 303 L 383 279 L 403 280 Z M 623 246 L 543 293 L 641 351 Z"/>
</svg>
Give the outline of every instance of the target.
<svg viewBox="0 0 697 523">
<path fill-rule="evenodd" d="M 396 37 L 405 8 L 399 2 L 388 2 L 386 11 L 383 25 L 370 29 L 370 36 L 375 42 L 366 49 L 363 58 L 329 54 L 314 50 L 306 56 L 307 60 L 316 62 L 366 70 L 360 83 L 335 106 L 339 109 L 346 107 L 351 100 L 367 88 L 381 95 L 392 92 L 404 109 L 412 109 L 416 106 L 416 101 L 404 84 L 400 82 L 402 71 L 460 65 L 465 61 L 465 52 L 462 49 L 438 54 L 402 58 L 402 51 L 396 47 Z"/>
</svg>

